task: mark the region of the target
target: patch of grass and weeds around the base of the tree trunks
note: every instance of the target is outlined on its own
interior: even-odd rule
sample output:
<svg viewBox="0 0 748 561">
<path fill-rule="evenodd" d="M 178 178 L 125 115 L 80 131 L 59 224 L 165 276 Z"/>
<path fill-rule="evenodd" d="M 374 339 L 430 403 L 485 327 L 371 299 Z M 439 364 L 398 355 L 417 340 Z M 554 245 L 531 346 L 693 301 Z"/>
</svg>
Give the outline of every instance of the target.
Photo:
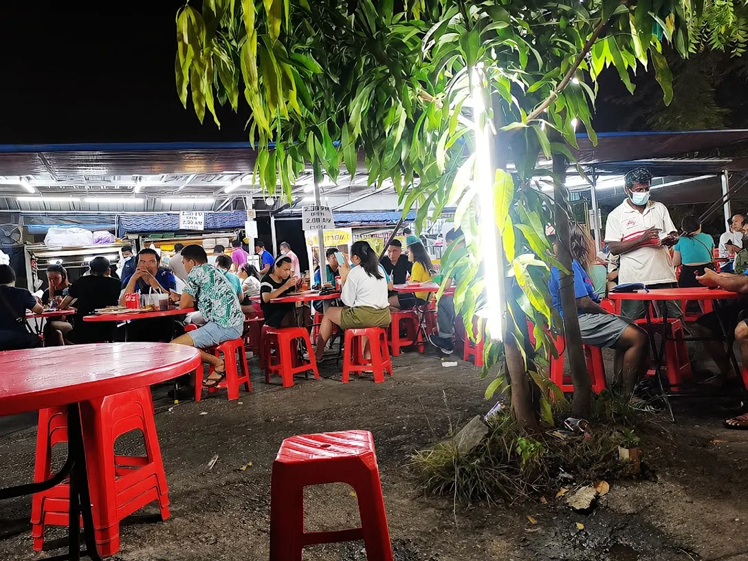
<svg viewBox="0 0 748 561">
<path fill-rule="evenodd" d="M 562 411 L 557 414 L 565 417 Z M 559 427 L 562 418 L 557 419 Z M 554 494 L 562 486 L 628 473 L 618 448 L 638 442 L 639 427 L 651 420 L 652 414 L 607 393 L 595 400 L 586 435 L 558 438 L 551 431 L 530 438 L 505 409 L 491 417 L 490 434 L 470 452 L 460 453 L 450 439 L 415 452 L 410 468 L 424 494 L 467 505 Z"/>
</svg>

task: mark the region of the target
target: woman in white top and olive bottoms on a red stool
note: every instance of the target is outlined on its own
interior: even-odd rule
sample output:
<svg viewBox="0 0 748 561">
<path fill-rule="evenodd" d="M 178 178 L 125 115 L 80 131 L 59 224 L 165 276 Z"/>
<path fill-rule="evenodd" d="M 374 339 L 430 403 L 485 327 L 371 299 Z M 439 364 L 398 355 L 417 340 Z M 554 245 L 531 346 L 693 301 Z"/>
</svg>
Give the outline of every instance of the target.
<svg viewBox="0 0 748 561">
<path fill-rule="evenodd" d="M 392 316 L 387 291 L 392 283 L 379 265 L 378 256 L 369 242 L 355 242 L 351 246 L 351 261 L 352 267 L 348 263 L 339 263 L 338 272 L 343 285 L 340 299 L 345 307 L 331 306 L 325 311 L 316 342 L 318 358 L 332 336 L 334 325 L 340 325 L 343 329 L 390 325 Z"/>
</svg>

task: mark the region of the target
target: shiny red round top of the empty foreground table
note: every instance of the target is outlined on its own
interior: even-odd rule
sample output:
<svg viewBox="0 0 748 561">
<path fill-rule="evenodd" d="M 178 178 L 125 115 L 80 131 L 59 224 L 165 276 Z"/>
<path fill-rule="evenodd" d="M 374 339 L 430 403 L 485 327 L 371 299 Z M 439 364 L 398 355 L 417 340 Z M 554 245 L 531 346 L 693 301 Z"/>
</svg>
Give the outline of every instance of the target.
<svg viewBox="0 0 748 561">
<path fill-rule="evenodd" d="M 200 367 L 200 352 L 171 343 L 97 343 L 0 352 L 0 416 L 135 390 Z"/>
</svg>

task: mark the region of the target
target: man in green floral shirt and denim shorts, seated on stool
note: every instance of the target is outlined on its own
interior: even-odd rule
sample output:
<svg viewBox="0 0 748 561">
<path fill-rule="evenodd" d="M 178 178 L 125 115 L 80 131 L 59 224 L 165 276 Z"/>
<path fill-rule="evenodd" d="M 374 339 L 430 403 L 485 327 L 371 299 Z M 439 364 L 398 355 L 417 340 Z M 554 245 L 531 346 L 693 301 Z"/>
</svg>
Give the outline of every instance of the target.
<svg viewBox="0 0 748 561">
<path fill-rule="evenodd" d="M 231 283 L 223 273 L 208 265 L 208 256 L 200 245 L 188 245 L 182 250 L 182 263 L 187 272 L 180 307 L 197 307 L 206 321 L 195 331 L 177 337 L 172 343 L 207 349 L 208 347 L 242 337 L 244 313 Z M 203 362 L 213 367 L 213 372 L 203 380 L 203 386 L 213 387 L 226 375 L 226 365 L 221 358 L 200 350 Z"/>
</svg>

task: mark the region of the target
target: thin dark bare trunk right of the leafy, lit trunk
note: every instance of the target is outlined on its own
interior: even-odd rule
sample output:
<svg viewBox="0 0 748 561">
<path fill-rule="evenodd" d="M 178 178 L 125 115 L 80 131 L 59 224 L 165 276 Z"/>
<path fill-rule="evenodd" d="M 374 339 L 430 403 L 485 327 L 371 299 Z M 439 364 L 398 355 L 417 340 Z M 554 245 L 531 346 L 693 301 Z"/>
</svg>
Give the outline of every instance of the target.
<svg viewBox="0 0 748 561">
<path fill-rule="evenodd" d="M 582 335 L 579 331 L 577 317 L 577 300 L 574 298 L 574 272 L 571 270 L 571 252 L 569 248 L 569 215 L 568 189 L 566 181 L 566 158 L 554 154 L 554 214 L 556 216 L 556 235 L 559 239 L 557 259 L 570 274 L 560 272 L 559 286 L 561 291 L 561 309 L 563 310 L 564 337 L 566 339 L 566 357 L 571 368 L 571 381 L 574 384 L 574 399 L 571 402 L 571 414 L 574 417 L 588 417 L 592 405 L 592 383 L 589 380 L 587 364 L 582 349 Z"/>
</svg>

